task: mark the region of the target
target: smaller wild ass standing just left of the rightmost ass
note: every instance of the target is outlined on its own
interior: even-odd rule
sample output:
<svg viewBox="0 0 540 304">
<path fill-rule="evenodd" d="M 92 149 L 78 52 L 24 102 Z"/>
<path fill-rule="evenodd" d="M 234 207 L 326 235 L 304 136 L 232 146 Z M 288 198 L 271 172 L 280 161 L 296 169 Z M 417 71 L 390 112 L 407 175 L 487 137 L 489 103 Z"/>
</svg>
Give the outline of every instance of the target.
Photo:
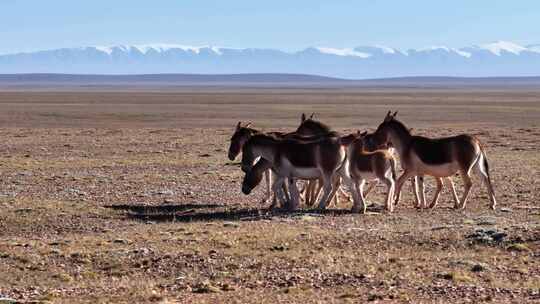
<svg viewBox="0 0 540 304">
<path fill-rule="evenodd" d="M 348 169 L 354 181 L 354 189 L 358 192 L 362 208 L 366 208 L 364 196 L 364 184 L 367 180 L 382 181 L 388 187 L 386 194 L 386 210 L 394 211 L 392 201 L 394 198 L 394 187 L 396 180 L 396 160 L 388 150 L 366 149 L 367 132 L 352 134 L 352 143 L 347 147 Z M 373 148 L 373 147 L 371 147 Z M 357 207 L 358 209 L 359 207 Z"/>
</svg>

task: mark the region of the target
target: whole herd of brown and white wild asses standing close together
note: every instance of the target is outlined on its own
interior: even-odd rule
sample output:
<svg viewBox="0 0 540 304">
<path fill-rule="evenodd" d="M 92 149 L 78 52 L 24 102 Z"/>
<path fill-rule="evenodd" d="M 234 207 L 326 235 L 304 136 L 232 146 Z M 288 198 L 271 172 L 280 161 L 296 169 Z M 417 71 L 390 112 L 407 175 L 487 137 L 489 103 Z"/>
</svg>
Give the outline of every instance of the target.
<svg viewBox="0 0 540 304">
<path fill-rule="evenodd" d="M 309 118 L 302 114 L 300 126 L 291 133 L 265 133 L 239 122 L 231 138 L 229 159 L 234 160 L 242 152 L 244 194 L 249 194 L 265 177 L 265 201 L 273 194 L 271 208 L 279 202 L 286 209 L 295 210 L 303 196 L 306 205 L 318 199 L 318 208 L 324 209 L 332 199 L 337 201 L 344 184 L 352 196 L 352 212 L 365 213 L 367 194 L 382 181 L 388 188 L 385 207 L 392 212 L 408 179 L 413 185 L 416 208 L 434 208 L 445 178 L 452 190 L 454 207 L 463 209 L 474 171 L 486 185 L 491 208 L 495 209 L 486 153 L 477 138 L 468 134 L 444 138 L 412 135 L 396 115 L 397 112 L 388 112 L 372 134 L 358 131 L 345 136 L 315 120 L 313 114 Z M 403 169 L 397 179 L 394 154 Z M 456 173 L 464 184 L 461 200 L 451 179 Z M 437 182 L 430 205 L 424 196 L 424 175 L 433 176 Z M 302 191 L 298 189 L 298 180 L 306 181 Z M 374 183 L 364 192 L 366 181 Z"/>
</svg>

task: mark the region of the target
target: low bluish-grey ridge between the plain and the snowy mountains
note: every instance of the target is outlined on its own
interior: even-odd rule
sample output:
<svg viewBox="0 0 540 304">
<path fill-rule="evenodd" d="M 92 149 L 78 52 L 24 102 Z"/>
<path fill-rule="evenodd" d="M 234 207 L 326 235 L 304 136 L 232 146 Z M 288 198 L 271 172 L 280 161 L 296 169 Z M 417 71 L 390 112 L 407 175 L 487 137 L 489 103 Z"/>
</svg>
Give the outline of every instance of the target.
<svg viewBox="0 0 540 304">
<path fill-rule="evenodd" d="M 530 87 L 540 89 L 540 76 L 531 77 L 395 77 L 349 80 L 306 74 L 0 74 L 0 89 L 8 88 L 148 88 L 148 87 Z"/>
</svg>

